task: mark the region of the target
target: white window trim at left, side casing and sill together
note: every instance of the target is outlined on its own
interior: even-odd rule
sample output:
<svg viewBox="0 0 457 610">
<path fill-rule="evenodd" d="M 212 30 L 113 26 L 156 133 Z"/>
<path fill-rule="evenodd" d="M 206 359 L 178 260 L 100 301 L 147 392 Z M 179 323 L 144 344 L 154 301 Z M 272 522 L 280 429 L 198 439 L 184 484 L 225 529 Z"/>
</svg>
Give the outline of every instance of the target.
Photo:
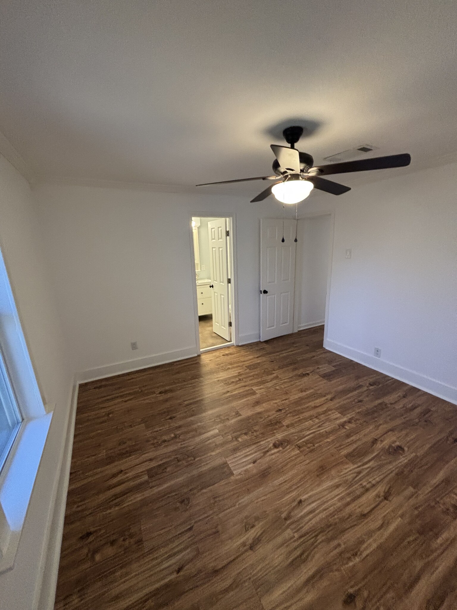
<svg viewBox="0 0 457 610">
<path fill-rule="evenodd" d="M 0 573 L 12 569 L 44 443 L 51 424 L 45 409 L 0 253 L 0 346 L 7 381 L 23 417 L 0 472 Z"/>
</svg>

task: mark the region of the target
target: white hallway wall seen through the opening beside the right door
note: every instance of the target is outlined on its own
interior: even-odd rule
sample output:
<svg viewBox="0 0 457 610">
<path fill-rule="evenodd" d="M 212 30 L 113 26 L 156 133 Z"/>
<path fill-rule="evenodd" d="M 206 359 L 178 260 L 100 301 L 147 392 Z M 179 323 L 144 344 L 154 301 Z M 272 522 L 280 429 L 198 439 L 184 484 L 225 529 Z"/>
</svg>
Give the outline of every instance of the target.
<svg viewBox="0 0 457 610">
<path fill-rule="evenodd" d="M 333 239 L 331 215 L 301 218 L 297 239 L 296 307 L 300 330 L 324 323 Z"/>
</svg>

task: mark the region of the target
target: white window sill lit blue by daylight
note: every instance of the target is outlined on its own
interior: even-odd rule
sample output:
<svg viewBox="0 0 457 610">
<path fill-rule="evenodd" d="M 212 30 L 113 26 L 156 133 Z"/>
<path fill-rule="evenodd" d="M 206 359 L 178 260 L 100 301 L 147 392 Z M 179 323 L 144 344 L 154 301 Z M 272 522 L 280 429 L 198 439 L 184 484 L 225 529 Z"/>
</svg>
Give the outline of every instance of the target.
<svg viewBox="0 0 457 610">
<path fill-rule="evenodd" d="M 24 420 L 0 475 L 0 573 L 12 569 L 52 413 Z"/>
</svg>

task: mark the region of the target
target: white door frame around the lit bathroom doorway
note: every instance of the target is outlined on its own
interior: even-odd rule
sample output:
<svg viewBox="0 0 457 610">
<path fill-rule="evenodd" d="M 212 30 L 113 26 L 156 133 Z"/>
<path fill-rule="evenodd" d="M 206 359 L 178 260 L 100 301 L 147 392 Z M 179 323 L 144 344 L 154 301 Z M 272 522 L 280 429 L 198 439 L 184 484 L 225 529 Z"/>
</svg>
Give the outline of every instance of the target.
<svg viewBox="0 0 457 610">
<path fill-rule="evenodd" d="M 195 281 L 195 253 L 194 237 L 192 232 L 192 218 L 227 218 L 228 221 L 228 243 L 230 245 L 230 302 L 232 303 L 232 341 L 214 347 L 200 348 L 199 332 L 199 312 L 197 300 L 197 284 Z M 220 350 L 231 345 L 238 345 L 238 267 L 236 260 L 236 215 L 235 213 L 224 212 L 192 212 L 189 217 L 189 243 L 190 243 L 190 262 L 192 290 L 194 295 L 194 321 L 195 321 L 195 342 L 197 355 L 207 351 Z"/>
</svg>

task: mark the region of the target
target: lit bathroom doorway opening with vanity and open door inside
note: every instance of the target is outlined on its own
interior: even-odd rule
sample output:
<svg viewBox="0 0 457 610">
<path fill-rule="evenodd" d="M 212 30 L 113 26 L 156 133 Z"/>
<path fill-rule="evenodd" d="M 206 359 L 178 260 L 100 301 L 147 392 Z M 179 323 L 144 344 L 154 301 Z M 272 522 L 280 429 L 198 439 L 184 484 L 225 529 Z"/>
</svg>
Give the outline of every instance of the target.
<svg viewBox="0 0 457 610">
<path fill-rule="evenodd" d="M 191 218 L 200 351 L 234 345 L 233 219 Z"/>
</svg>

